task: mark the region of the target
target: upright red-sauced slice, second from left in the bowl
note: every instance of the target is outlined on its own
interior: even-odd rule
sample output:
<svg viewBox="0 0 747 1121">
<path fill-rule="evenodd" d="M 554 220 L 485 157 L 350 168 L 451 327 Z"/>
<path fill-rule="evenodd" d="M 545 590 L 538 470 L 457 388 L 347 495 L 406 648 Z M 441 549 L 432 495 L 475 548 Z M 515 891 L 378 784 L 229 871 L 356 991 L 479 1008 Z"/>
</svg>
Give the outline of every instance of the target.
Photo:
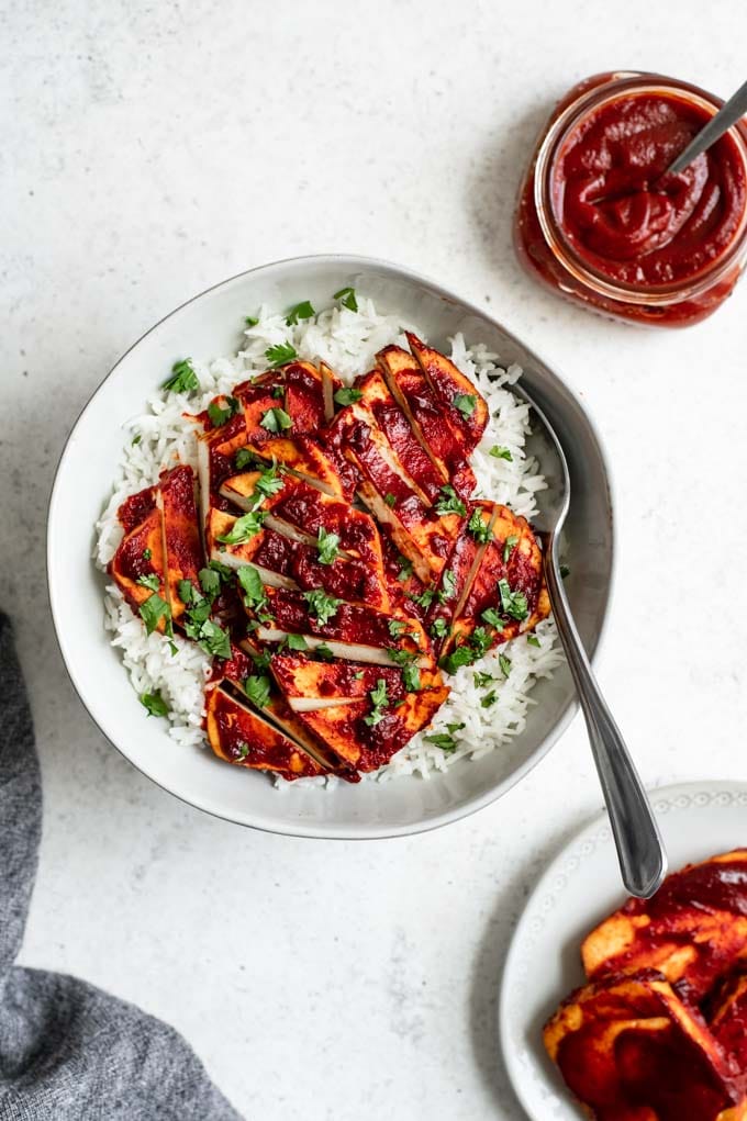
<svg viewBox="0 0 747 1121">
<path fill-rule="evenodd" d="M 178 466 L 164 471 L 158 484 L 157 504 L 163 519 L 165 569 L 172 620 L 177 622 L 185 605 L 179 597 L 179 581 L 199 586 L 203 564 L 197 508 L 192 467 Z"/>
</svg>

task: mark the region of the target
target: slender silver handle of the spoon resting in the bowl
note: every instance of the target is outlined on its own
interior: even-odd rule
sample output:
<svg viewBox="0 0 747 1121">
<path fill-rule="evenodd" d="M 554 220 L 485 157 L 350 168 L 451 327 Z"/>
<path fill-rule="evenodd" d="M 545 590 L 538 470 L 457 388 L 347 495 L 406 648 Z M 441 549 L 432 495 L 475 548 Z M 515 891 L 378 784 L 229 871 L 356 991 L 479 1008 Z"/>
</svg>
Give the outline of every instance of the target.
<svg viewBox="0 0 747 1121">
<path fill-rule="evenodd" d="M 646 791 L 589 664 L 563 587 L 553 535 L 545 553 L 547 591 L 587 722 L 591 750 L 612 827 L 622 882 L 648 899 L 666 874 L 666 854 Z"/>
</svg>

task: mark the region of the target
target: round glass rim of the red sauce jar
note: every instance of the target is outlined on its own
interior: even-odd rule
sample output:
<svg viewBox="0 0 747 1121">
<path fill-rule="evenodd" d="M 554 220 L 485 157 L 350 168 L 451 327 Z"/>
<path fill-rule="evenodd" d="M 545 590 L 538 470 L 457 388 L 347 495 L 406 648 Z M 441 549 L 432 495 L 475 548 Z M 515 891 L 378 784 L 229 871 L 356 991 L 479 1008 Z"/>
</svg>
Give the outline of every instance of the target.
<svg viewBox="0 0 747 1121">
<path fill-rule="evenodd" d="M 648 306 L 667 305 L 682 299 L 697 298 L 708 291 L 735 265 L 740 263 L 740 260 L 747 256 L 747 205 L 743 211 L 739 228 L 734 234 L 731 244 L 721 256 L 709 261 L 693 276 L 682 280 L 666 285 L 644 286 L 612 280 L 581 257 L 566 238 L 554 213 L 550 197 L 550 184 L 554 161 L 563 142 L 587 114 L 617 101 L 625 93 L 638 96 L 662 92 L 680 96 L 682 100 L 695 103 L 712 113 L 718 112 L 723 103 L 714 94 L 679 78 L 666 77 L 662 74 L 617 71 L 603 84 L 593 85 L 580 93 L 553 121 L 537 150 L 534 170 L 534 205 L 540 226 L 547 245 L 563 267 L 577 280 L 602 296 L 628 304 Z M 734 124 L 726 135 L 736 142 L 747 178 L 747 139 L 744 128 L 739 123 Z"/>
</svg>

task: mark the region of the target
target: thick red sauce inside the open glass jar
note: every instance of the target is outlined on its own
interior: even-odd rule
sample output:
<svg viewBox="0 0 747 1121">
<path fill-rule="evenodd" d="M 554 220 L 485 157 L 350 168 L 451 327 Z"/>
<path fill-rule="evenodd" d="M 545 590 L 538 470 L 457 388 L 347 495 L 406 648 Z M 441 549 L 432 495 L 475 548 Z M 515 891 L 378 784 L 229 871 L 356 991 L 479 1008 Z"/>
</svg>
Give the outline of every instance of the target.
<svg viewBox="0 0 747 1121">
<path fill-rule="evenodd" d="M 710 120 L 671 93 L 616 99 L 583 119 L 552 172 L 555 215 L 592 268 L 624 284 L 689 279 L 734 242 L 745 166 L 728 133 L 679 175 L 672 160 Z"/>
</svg>

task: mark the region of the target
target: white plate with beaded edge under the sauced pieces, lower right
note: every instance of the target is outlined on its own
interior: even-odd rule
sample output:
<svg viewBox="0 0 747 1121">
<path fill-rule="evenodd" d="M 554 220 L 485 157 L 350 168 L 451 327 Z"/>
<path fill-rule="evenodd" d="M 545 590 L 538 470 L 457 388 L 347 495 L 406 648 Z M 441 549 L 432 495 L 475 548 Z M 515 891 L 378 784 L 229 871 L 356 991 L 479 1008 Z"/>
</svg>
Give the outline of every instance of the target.
<svg viewBox="0 0 747 1121">
<path fill-rule="evenodd" d="M 671 871 L 747 842 L 747 782 L 683 782 L 651 791 Z M 508 1076 L 532 1121 L 580 1121 L 582 1110 L 542 1045 L 542 1027 L 583 983 L 581 939 L 625 899 L 601 814 L 555 856 L 514 932 L 499 1003 Z"/>
</svg>

